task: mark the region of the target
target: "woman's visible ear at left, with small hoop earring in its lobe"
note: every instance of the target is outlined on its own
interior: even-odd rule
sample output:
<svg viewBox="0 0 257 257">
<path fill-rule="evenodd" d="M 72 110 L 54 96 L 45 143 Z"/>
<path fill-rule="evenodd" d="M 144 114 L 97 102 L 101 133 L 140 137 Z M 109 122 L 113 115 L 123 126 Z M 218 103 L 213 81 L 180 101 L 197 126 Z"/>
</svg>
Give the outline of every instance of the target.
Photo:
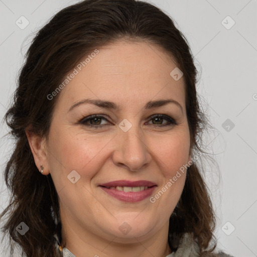
<svg viewBox="0 0 257 257">
<path fill-rule="evenodd" d="M 47 148 L 46 140 L 38 135 L 32 133 L 29 129 L 26 129 L 26 136 L 29 141 L 31 152 L 34 156 L 34 161 L 39 171 L 41 172 L 41 165 L 44 167 L 43 175 L 49 174 L 48 161 L 47 161 Z"/>
</svg>

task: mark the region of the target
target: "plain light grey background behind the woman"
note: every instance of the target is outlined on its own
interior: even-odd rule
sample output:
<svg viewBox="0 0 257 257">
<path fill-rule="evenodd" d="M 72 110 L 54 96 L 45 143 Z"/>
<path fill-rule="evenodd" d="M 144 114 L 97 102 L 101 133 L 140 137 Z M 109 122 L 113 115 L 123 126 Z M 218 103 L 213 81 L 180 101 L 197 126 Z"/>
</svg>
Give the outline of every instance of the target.
<svg viewBox="0 0 257 257">
<path fill-rule="evenodd" d="M 10 104 L 33 32 L 60 9 L 77 2 L 0 0 L 1 118 Z M 219 180 L 217 167 L 206 166 L 205 179 L 217 214 L 218 247 L 236 257 L 257 256 L 257 1 L 152 3 L 177 22 L 190 43 L 198 70 L 202 70 L 197 90 L 215 126 L 205 137 L 206 145 L 213 149 L 220 172 Z M 29 21 L 24 30 L 16 25 L 21 16 Z M 232 24 L 227 16 L 235 22 L 230 29 L 223 26 Z M 226 119 L 235 126 L 222 126 Z M 1 124 L 1 173 L 12 153 L 13 141 L 2 138 L 6 133 L 6 125 Z M 2 210 L 8 199 L 2 176 L 0 185 Z"/>
</svg>

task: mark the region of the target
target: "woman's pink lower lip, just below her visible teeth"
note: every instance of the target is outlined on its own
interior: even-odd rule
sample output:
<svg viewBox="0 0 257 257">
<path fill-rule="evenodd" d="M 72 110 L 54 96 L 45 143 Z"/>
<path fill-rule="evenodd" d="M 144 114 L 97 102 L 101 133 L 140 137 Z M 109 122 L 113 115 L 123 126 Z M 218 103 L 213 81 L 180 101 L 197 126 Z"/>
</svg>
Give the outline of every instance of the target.
<svg viewBox="0 0 257 257">
<path fill-rule="evenodd" d="M 140 202 L 150 197 L 156 187 L 157 186 L 149 187 L 148 189 L 145 189 L 139 192 L 124 192 L 124 191 L 118 191 L 116 189 L 109 189 L 102 186 L 100 188 L 110 196 L 113 196 L 122 202 Z"/>
</svg>

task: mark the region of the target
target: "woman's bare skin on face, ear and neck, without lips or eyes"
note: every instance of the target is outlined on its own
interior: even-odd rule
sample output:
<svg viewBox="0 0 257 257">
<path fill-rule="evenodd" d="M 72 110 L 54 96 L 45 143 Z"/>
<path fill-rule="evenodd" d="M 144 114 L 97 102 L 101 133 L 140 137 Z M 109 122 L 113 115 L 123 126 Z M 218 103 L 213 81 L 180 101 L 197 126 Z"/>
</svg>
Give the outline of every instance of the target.
<svg viewBox="0 0 257 257">
<path fill-rule="evenodd" d="M 154 196 L 191 160 L 183 77 L 175 81 L 170 72 L 176 64 L 158 46 L 116 42 L 98 48 L 99 53 L 58 95 L 49 138 L 27 132 L 35 163 L 43 175 L 51 174 L 59 196 L 63 243 L 80 256 L 158 256 L 171 253 L 168 245 L 169 217 L 182 194 L 186 172 L 151 203 L 121 202 L 98 185 L 114 180 L 149 180 L 158 187 Z M 85 103 L 85 98 L 116 103 L 118 110 Z M 144 109 L 150 100 L 173 99 L 174 103 Z M 105 119 L 79 120 L 90 114 Z M 165 114 L 176 120 L 151 118 Z M 118 124 L 132 124 L 123 132 Z M 98 125 L 99 126 L 99 125 Z M 80 179 L 67 176 L 75 170 Z M 131 230 L 123 234 L 126 222 Z"/>
</svg>

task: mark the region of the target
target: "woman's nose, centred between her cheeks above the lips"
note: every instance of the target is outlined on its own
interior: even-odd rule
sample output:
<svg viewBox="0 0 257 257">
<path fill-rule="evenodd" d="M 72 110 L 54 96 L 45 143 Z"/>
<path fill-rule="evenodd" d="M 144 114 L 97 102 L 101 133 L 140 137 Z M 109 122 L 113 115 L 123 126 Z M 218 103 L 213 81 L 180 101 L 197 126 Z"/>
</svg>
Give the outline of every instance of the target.
<svg viewBox="0 0 257 257">
<path fill-rule="evenodd" d="M 116 148 L 112 156 L 115 165 L 139 171 L 150 164 L 151 151 L 143 132 L 136 125 L 127 132 L 119 130 L 115 139 Z"/>
</svg>

